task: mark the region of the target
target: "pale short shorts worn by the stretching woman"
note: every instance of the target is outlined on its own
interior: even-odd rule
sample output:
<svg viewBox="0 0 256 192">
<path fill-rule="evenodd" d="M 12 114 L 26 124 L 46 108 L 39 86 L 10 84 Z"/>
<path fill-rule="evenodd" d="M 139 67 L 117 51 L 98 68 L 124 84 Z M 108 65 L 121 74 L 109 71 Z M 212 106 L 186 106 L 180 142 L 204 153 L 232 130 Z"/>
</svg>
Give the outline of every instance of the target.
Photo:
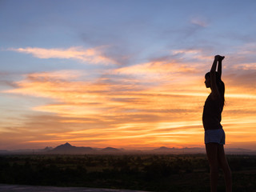
<svg viewBox="0 0 256 192">
<path fill-rule="evenodd" d="M 218 144 L 225 144 L 225 132 L 222 129 L 206 130 L 205 131 L 205 144 L 209 142 L 216 142 Z"/>
</svg>

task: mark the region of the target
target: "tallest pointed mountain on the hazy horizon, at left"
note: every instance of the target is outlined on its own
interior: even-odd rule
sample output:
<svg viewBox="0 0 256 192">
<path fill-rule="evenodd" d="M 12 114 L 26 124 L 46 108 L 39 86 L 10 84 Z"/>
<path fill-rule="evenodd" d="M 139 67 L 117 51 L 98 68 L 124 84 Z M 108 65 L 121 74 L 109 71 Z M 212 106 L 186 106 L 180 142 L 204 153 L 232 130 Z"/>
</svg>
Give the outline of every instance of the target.
<svg viewBox="0 0 256 192">
<path fill-rule="evenodd" d="M 50 154 L 93 154 L 96 150 L 91 147 L 85 146 L 71 146 L 66 142 L 63 145 L 56 146 L 53 150 L 50 150 Z"/>
</svg>

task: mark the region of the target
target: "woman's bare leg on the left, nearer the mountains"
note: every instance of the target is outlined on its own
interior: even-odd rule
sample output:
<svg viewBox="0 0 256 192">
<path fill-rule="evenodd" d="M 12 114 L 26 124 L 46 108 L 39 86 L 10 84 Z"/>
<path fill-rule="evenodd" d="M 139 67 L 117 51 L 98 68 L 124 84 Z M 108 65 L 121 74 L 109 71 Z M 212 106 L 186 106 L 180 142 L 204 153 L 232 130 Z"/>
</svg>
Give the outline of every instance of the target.
<svg viewBox="0 0 256 192">
<path fill-rule="evenodd" d="M 206 143 L 206 154 L 210 165 L 210 191 L 217 192 L 218 185 L 218 143 Z"/>
</svg>

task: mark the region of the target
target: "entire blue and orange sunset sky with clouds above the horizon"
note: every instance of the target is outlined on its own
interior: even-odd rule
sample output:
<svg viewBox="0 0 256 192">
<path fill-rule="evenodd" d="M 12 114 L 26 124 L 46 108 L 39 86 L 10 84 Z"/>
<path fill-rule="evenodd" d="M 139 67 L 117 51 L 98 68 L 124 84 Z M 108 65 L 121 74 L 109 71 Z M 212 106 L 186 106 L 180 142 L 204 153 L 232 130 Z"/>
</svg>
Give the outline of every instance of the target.
<svg viewBox="0 0 256 192">
<path fill-rule="evenodd" d="M 0 0 L 0 150 L 203 147 L 225 55 L 226 147 L 256 149 L 256 2 Z"/>
</svg>

